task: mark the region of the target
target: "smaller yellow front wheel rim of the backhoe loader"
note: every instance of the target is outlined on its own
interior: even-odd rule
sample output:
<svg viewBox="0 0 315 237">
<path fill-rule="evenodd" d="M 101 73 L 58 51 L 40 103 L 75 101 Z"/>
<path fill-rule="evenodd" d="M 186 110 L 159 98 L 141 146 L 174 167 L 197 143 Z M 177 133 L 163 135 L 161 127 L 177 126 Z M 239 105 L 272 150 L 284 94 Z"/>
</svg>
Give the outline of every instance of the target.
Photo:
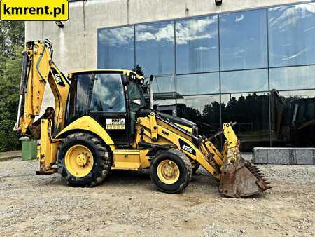
<svg viewBox="0 0 315 237">
<path fill-rule="evenodd" d="M 175 184 L 179 180 L 179 166 L 174 161 L 165 160 L 158 165 L 158 177 L 165 184 Z"/>
</svg>

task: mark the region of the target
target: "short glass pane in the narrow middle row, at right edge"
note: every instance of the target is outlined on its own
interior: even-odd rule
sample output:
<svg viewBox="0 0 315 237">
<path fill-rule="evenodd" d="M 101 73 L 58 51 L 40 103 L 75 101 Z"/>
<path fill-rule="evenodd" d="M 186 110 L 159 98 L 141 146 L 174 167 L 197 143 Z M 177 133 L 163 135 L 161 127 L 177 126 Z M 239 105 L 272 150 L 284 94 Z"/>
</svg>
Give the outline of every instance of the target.
<svg viewBox="0 0 315 237">
<path fill-rule="evenodd" d="M 315 66 L 270 69 L 270 89 L 295 90 L 315 88 Z"/>
</svg>

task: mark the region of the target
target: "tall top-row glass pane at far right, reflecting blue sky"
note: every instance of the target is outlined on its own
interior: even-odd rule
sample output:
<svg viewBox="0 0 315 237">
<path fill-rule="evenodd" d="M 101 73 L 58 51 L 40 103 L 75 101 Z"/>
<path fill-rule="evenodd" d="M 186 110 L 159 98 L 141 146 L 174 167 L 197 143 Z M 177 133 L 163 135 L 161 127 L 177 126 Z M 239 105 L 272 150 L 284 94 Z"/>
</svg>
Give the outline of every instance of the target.
<svg viewBox="0 0 315 237">
<path fill-rule="evenodd" d="M 315 63 L 315 3 L 268 10 L 270 67 Z"/>
</svg>

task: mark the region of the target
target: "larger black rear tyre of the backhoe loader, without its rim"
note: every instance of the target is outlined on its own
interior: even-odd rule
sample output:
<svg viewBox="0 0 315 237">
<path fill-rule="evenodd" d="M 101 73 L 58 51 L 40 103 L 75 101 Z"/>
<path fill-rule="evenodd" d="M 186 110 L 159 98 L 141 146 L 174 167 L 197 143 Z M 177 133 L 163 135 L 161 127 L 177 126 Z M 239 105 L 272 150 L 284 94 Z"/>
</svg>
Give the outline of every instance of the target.
<svg viewBox="0 0 315 237">
<path fill-rule="evenodd" d="M 66 169 L 66 151 L 77 144 L 90 149 L 93 155 L 92 170 L 84 177 L 71 175 L 69 170 Z M 66 184 L 74 187 L 94 187 L 101 184 L 109 175 L 112 162 L 109 147 L 99 137 L 90 133 L 72 133 L 59 146 L 58 163 L 58 172 L 62 175 Z"/>
</svg>

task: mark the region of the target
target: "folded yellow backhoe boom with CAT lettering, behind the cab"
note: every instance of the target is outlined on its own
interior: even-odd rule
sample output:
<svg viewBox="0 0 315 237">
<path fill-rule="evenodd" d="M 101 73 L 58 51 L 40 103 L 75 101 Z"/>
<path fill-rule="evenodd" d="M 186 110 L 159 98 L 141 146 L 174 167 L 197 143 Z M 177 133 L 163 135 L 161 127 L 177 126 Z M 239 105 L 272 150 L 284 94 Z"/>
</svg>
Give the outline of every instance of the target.
<svg viewBox="0 0 315 237">
<path fill-rule="evenodd" d="M 23 52 L 20 102 L 15 125 L 15 130 L 18 133 L 29 137 L 33 136 L 29 132 L 29 128 L 34 123 L 34 118 L 41 112 L 46 83 L 49 83 L 55 97 L 53 124 L 55 124 L 54 130 L 57 133 L 64 128 L 69 82 L 52 61 L 50 41 L 27 42 Z M 22 107 L 23 101 L 24 107 Z"/>
</svg>

